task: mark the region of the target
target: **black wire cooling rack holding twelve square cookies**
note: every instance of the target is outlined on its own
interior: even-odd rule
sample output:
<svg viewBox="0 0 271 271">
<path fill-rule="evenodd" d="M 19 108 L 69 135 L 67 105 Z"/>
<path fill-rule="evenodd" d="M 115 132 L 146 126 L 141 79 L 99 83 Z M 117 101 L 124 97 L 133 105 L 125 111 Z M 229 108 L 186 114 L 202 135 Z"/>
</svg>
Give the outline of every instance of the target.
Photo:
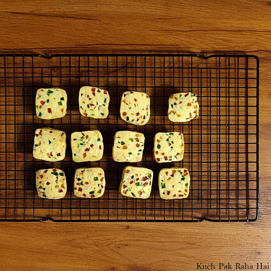
<svg viewBox="0 0 271 271">
<path fill-rule="evenodd" d="M 98 86 L 110 95 L 109 117 L 80 115 L 81 86 Z M 41 120 L 35 115 L 38 88 L 60 87 L 68 95 L 63 118 Z M 150 120 L 130 125 L 119 115 L 124 91 L 150 96 Z M 198 96 L 200 116 L 186 123 L 167 117 L 172 93 L 192 91 Z M 0 55 L 0 221 L 255 221 L 259 213 L 259 60 L 252 55 L 197 54 L 86 54 Z M 34 160 L 34 131 L 41 127 L 67 134 L 66 157 L 61 162 Z M 104 155 L 99 162 L 75 163 L 71 159 L 70 134 L 99 130 Z M 118 130 L 145 134 L 143 159 L 133 166 L 154 172 L 148 199 L 132 199 L 118 193 L 127 163 L 111 156 Z M 153 137 L 157 132 L 180 131 L 185 138 L 181 163 L 154 162 Z M 106 188 L 99 199 L 73 195 L 78 167 L 102 167 Z M 189 169 L 191 186 L 186 199 L 163 200 L 158 173 L 163 167 Z M 67 177 L 63 199 L 41 199 L 35 172 L 56 167 Z"/>
</svg>

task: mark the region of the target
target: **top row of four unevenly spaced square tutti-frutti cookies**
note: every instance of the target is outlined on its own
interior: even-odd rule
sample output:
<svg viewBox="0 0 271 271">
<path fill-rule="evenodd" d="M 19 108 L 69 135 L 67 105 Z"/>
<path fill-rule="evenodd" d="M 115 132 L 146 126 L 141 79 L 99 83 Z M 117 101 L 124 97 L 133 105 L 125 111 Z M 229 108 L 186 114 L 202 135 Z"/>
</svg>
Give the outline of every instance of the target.
<svg viewBox="0 0 271 271">
<path fill-rule="evenodd" d="M 83 86 L 79 91 L 79 111 L 84 117 L 107 118 L 109 94 L 107 90 Z M 36 115 L 44 120 L 62 118 L 66 115 L 67 93 L 60 88 L 41 88 L 36 93 Z M 196 94 L 175 93 L 169 98 L 167 111 L 170 121 L 186 122 L 199 117 Z M 150 97 L 144 92 L 126 91 L 120 104 L 122 120 L 144 125 L 150 119 Z"/>
</svg>

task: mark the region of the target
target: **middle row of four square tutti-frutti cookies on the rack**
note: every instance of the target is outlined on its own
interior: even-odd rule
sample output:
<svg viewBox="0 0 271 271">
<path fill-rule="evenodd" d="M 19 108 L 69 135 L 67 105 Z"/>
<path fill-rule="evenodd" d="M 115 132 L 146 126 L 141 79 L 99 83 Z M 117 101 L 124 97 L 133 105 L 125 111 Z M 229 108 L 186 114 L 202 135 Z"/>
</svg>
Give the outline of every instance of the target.
<svg viewBox="0 0 271 271">
<path fill-rule="evenodd" d="M 116 162 L 140 162 L 145 144 L 144 134 L 135 131 L 118 131 L 114 136 L 112 158 Z M 71 134 L 74 162 L 94 162 L 102 159 L 103 137 L 100 131 L 83 131 Z M 66 133 L 53 128 L 35 131 L 33 157 L 57 162 L 65 158 Z M 183 159 L 184 139 L 179 132 L 156 133 L 153 156 L 156 162 L 177 162 Z"/>
</svg>

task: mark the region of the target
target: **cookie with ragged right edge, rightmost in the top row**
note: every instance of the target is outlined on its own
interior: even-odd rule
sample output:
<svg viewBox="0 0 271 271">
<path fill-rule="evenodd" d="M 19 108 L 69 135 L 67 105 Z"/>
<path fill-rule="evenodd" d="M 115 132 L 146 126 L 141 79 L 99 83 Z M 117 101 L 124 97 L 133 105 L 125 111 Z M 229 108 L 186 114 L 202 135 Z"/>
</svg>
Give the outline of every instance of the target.
<svg viewBox="0 0 271 271">
<path fill-rule="evenodd" d="M 169 98 L 167 115 L 170 121 L 186 122 L 199 118 L 197 95 L 191 92 L 174 93 Z"/>
</svg>

